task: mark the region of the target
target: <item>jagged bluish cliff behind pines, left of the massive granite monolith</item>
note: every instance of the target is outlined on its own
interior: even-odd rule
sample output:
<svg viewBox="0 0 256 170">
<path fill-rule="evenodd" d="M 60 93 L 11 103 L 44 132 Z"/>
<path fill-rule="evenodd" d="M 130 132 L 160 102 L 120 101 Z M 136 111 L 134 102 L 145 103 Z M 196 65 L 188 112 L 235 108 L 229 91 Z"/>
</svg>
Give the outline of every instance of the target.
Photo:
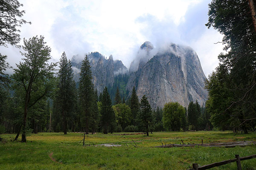
<svg viewBox="0 0 256 170">
<path fill-rule="evenodd" d="M 122 64 L 122 61 L 113 61 L 112 55 L 109 59 L 106 59 L 99 52 L 92 52 L 87 55 L 91 65 L 93 84 L 99 93 L 103 91 L 105 86 L 113 85 L 115 73 L 122 74 L 127 72 L 127 68 Z M 77 58 L 79 57 L 73 56 L 71 62 L 74 71 L 74 79 L 76 82 L 79 82 L 81 61 Z"/>
</svg>

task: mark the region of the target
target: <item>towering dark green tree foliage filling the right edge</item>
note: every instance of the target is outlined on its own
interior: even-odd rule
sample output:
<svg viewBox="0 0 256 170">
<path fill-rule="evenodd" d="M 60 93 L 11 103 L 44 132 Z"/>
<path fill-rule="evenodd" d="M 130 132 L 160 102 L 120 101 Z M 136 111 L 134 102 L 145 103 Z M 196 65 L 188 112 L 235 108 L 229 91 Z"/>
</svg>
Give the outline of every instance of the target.
<svg viewBox="0 0 256 170">
<path fill-rule="evenodd" d="M 213 0 L 209 4 L 206 26 L 223 34 L 227 53 L 218 56 L 220 64 L 207 82 L 206 106 L 212 124 L 223 130 L 241 128 L 247 133 L 255 129 L 254 121 L 244 122 L 256 118 L 256 23 L 252 12 L 254 0 Z"/>
</svg>

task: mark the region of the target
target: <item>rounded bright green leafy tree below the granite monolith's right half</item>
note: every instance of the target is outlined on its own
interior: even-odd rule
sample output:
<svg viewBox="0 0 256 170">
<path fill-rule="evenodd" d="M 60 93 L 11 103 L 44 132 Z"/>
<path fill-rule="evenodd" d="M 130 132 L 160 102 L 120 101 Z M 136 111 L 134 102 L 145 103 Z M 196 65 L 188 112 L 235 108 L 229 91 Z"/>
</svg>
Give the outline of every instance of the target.
<svg viewBox="0 0 256 170">
<path fill-rule="evenodd" d="M 169 102 L 163 108 L 163 127 L 167 130 L 180 131 L 186 111 L 178 102 Z"/>
</svg>

